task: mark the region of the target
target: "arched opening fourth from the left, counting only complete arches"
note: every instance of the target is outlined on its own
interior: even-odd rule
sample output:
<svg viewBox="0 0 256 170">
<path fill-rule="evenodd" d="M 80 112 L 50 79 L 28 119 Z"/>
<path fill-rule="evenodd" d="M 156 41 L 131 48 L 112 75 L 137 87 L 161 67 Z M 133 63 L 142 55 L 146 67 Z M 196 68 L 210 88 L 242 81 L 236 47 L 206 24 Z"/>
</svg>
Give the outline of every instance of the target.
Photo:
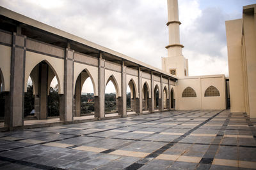
<svg viewBox="0 0 256 170">
<path fill-rule="evenodd" d="M 136 90 L 134 81 L 131 79 L 127 85 L 127 111 L 135 111 L 136 110 Z"/>
</svg>

